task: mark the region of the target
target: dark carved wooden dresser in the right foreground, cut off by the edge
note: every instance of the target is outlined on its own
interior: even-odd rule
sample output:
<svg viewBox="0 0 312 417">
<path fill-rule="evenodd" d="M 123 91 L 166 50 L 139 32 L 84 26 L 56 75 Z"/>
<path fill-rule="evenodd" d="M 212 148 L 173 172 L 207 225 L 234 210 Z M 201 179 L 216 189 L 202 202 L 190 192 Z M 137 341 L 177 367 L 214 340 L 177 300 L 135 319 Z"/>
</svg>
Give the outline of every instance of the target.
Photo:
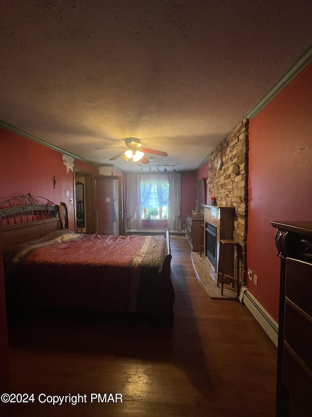
<svg viewBox="0 0 312 417">
<path fill-rule="evenodd" d="M 271 222 L 281 258 L 276 416 L 312 416 L 312 221 Z"/>
</svg>

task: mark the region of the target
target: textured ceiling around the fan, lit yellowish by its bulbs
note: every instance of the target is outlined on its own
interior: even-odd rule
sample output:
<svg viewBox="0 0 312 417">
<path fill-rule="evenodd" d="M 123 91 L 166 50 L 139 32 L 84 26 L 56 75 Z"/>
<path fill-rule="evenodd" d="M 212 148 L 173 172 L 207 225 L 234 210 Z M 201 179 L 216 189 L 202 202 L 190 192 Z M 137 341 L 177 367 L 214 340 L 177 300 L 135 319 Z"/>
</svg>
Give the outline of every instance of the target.
<svg viewBox="0 0 312 417">
<path fill-rule="evenodd" d="M 195 170 L 309 47 L 311 4 L 2 0 L 0 119 L 93 163 L 140 170 L 96 149 L 135 136 Z"/>
</svg>

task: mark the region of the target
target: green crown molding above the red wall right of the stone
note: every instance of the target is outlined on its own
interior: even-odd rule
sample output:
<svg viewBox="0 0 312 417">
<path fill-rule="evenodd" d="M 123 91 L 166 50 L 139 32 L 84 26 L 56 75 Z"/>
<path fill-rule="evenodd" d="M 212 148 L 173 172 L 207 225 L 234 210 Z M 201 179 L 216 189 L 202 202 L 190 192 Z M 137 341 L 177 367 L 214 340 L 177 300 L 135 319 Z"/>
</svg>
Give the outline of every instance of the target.
<svg viewBox="0 0 312 417">
<path fill-rule="evenodd" d="M 312 45 L 301 55 L 298 61 L 274 84 L 270 91 L 265 94 L 260 101 L 246 114 L 247 119 L 251 120 L 260 110 L 262 110 L 292 79 L 312 61 Z"/>
</svg>

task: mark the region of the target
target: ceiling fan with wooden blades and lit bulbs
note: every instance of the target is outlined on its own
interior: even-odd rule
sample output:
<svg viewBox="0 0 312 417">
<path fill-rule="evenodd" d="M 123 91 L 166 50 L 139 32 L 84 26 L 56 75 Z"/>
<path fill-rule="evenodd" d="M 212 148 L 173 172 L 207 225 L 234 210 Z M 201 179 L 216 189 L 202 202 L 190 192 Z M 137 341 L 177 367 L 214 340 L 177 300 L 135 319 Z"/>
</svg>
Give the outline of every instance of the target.
<svg viewBox="0 0 312 417">
<path fill-rule="evenodd" d="M 119 154 L 110 158 L 110 161 L 122 156 L 126 161 L 132 159 L 133 162 L 141 161 L 143 164 L 148 164 L 150 161 L 147 159 L 145 154 L 155 154 L 160 156 L 168 156 L 167 152 L 155 151 L 154 149 L 142 148 L 141 141 L 137 137 L 126 137 L 125 138 L 126 148 L 97 148 L 97 149 L 125 149 L 126 151 L 121 151 Z M 131 161 L 131 162 L 132 162 Z"/>
</svg>

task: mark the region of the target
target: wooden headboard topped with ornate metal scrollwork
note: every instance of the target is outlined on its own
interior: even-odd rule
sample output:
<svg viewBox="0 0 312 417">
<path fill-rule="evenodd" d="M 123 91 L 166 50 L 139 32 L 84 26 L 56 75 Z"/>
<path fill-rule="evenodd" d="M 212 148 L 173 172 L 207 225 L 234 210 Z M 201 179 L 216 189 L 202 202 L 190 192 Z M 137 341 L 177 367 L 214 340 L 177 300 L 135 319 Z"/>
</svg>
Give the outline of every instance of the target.
<svg viewBox="0 0 312 417">
<path fill-rule="evenodd" d="M 0 203 L 0 231 L 3 249 L 68 228 L 65 203 L 32 194 L 9 198 Z"/>
</svg>

